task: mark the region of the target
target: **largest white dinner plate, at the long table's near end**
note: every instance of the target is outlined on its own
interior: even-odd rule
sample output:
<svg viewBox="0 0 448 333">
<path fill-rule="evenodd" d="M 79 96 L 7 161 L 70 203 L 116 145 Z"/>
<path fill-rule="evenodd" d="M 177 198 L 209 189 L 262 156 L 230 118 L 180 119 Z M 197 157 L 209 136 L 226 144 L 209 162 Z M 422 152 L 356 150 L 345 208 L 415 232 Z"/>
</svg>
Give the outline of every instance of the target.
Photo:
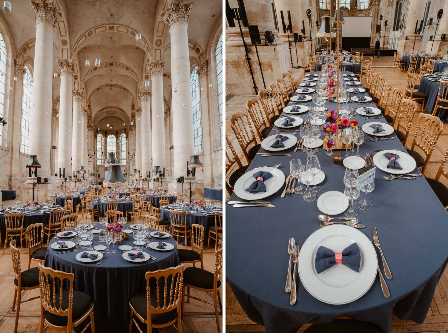
<svg viewBox="0 0 448 333">
<path fill-rule="evenodd" d="M 343 251 L 353 242 L 361 252 L 359 272 L 336 264 L 318 274 L 314 268 L 314 259 L 320 246 L 335 252 Z M 373 285 L 378 259 L 375 248 L 361 231 L 348 225 L 329 225 L 311 234 L 303 243 L 299 254 L 298 272 L 302 285 L 321 302 L 340 305 L 361 298 Z"/>
</svg>

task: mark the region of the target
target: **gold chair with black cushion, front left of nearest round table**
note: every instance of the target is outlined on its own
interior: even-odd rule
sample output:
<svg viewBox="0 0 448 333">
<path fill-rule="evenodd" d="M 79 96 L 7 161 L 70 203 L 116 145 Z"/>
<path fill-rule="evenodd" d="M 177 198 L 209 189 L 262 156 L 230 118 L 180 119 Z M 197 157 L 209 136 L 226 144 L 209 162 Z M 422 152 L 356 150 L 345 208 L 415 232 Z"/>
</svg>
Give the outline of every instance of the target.
<svg viewBox="0 0 448 333">
<path fill-rule="evenodd" d="M 55 287 L 55 280 L 60 281 L 58 287 Z M 73 273 L 56 271 L 39 263 L 41 307 L 39 332 L 50 328 L 71 333 L 72 329 L 90 317 L 90 321 L 81 332 L 85 332 L 90 326 L 91 332 L 95 333 L 93 300 L 90 295 L 73 290 L 74 280 Z M 69 285 L 69 289 L 64 290 L 66 285 Z"/>
</svg>

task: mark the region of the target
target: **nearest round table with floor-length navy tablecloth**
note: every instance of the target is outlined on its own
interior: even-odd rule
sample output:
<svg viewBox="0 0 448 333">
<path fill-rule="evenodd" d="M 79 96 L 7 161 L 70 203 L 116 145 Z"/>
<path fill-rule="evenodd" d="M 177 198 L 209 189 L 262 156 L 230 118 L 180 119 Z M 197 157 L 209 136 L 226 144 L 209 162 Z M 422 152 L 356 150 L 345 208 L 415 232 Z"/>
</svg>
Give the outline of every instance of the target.
<svg viewBox="0 0 448 333">
<path fill-rule="evenodd" d="M 156 231 L 156 230 L 154 230 Z M 94 234 L 93 246 L 98 245 L 98 235 Z M 73 239 L 72 239 L 73 240 Z M 59 242 L 60 239 L 52 239 Z M 50 246 L 45 257 L 45 266 L 56 270 L 73 273 L 75 281 L 73 290 L 89 294 L 94 301 L 95 329 L 97 332 L 127 332 L 129 327 L 129 298 L 138 292 L 146 291 L 145 273 L 179 264 L 176 242 L 166 238 L 172 243 L 172 251 L 155 251 L 145 248 L 143 252 L 149 253 L 156 260 L 149 259 L 143 263 L 134 263 L 125 260 L 123 252 L 118 249 L 121 245 L 133 245 L 132 234 L 129 240 L 123 240 L 120 245 L 115 244 L 116 253 L 111 253 L 102 264 L 79 262 L 75 256 L 82 250 L 57 254 Z M 156 239 L 151 240 L 158 241 Z M 110 245 L 112 249 L 112 244 Z M 84 327 L 80 325 L 79 327 Z"/>
</svg>

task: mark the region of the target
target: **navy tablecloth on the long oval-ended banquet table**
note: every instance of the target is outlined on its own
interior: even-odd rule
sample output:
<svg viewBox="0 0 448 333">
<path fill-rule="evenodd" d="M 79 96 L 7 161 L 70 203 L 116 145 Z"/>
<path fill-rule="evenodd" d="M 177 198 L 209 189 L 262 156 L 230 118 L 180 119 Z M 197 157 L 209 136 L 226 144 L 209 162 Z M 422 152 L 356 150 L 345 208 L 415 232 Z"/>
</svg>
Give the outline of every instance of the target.
<svg viewBox="0 0 448 333">
<path fill-rule="evenodd" d="M 374 104 L 364 105 L 374 107 Z M 327 102 L 326 106 L 336 109 L 336 103 Z M 351 103 L 349 106 L 358 108 L 360 105 Z M 310 118 L 308 113 L 302 113 L 301 117 L 304 120 Z M 352 119 L 358 121 L 358 126 L 370 122 L 359 115 Z M 387 123 L 384 119 L 373 121 Z M 291 159 L 299 158 L 306 163 L 306 153 L 300 150 L 294 153 L 293 148 L 285 151 L 292 156 L 256 156 L 248 169 L 281 162 L 279 169 L 288 176 Z M 404 147 L 397 138 L 373 142 L 366 135 L 359 152 L 364 154 L 372 149 Z M 260 148 L 260 152 L 263 151 Z M 345 167 L 342 163 L 333 164 L 325 151 L 317 156 L 326 175 L 320 184 L 322 190 L 316 193 L 317 198 L 329 190 L 343 192 Z M 419 173 L 419 170 L 415 169 L 413 173 Z M 386 279 L 390 298 L 383 296 L 377 276 L 370 290 L 358 300 L 345 305 L 330 305 L 311 296 L 297 278 L 297 303 L 290 305 L 290 295 L 285 292 L 288 240 L 294 237 L 296 244 L 302 247 L 308 236 L 320 228 L 317 216 L 322 213 L 317 208 L 317 199 L 305 202 L 302 195 L 296 194 L 282 199 L 283 185 L 281 190 L 265 199 L 276 208 L 233 208 L 227 205 L 226 241 L 233 245 L 226 250 L 226 279 L 251 320 L 264 325 L 267 332 L 276 333 L 296 332 L 308 322 L 326 323 L 339 315 L 373 322 L 386 332 L 392 329 L 392 311 L 401 319 L 418 323 L 425 320 L 435 287 L 447 264 L 448 215 L 425 177 L 412 181 L 386 181 L 382 177 L 385 174 L 377 168 L 375 190 L 367 195 L 372 208 L 359 210 L 357 217 L 366 225 L 359 230 L 367 237 L 372 238 L 373 227 L 378 229 L 381 247 L 392 271 L 392 280 Z M 229 200 L 240 199 L 233 194 Z M 378 250 L 375 251 L 379 256 Z M 380 256 L 379 267 L 384 274 Z"/>
</svg>

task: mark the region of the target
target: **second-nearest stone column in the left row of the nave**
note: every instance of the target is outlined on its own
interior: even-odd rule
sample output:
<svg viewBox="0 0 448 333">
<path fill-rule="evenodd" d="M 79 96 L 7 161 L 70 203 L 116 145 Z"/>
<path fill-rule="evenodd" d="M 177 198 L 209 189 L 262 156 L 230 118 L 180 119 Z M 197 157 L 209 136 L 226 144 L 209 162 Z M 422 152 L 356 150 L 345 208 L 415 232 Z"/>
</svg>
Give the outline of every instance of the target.
<svg viewBox="0 0 448 333">
<path fill-rule="evenodd" d="M 65 177 L 70 176 L 72 158 L 72 74 L 73 60 L 58 59 L 60 69 L 60 99 L 59 99 L 59 146 L 57 173 L 65 168 Z M 62 178 L 64 179 L 64 178 Z M 61 181 L 59 179 L 59 181 Z"/>
</svg>

